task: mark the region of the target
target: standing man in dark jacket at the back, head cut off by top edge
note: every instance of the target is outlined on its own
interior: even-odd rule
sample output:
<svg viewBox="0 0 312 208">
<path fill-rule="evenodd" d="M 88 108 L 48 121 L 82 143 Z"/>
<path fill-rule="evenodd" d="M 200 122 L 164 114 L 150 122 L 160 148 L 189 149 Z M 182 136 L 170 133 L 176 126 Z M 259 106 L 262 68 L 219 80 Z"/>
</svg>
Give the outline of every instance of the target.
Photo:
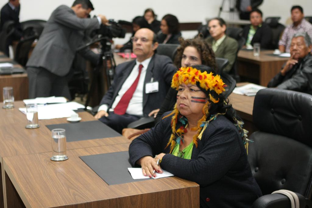
<svg viewBox="0 0 312 208">
<path fill-rule="evenodd" d="M 239 18 L 249 20 L 250 12 L 256 9 L 263 0 L 236 0 L 236 8 L 239 12 Z"/>
</svg>

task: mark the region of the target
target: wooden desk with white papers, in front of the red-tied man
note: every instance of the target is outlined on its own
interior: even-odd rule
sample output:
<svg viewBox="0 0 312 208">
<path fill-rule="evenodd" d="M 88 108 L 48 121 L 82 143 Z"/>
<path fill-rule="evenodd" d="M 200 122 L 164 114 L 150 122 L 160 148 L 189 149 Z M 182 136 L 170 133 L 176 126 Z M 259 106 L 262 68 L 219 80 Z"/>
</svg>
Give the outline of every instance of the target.
<svg viewBox="0 0 312 208">
<path fill-rule="evenodd" d="M 3 158 L 17 155 L 28 155 L 41 152 L 49 152 L 51 154 L 51 131 L 45 125 L 67 123 L 66 118 L 39 120 L 40 128 L 26 129 L 26 116 L 22 114 L 18 108 L 24 107 L 22 101 L 14 102 L 14 109 L 2 109 L 0 104 L 0 162 L 2 171 L 0 172 L 2 182 L 4 182 Z M 78 113 L 82 121 L 96 120 L 87 112 Z M 67 143 L 67 149 L 89 148 L 105 145 L 114 145 L 121 143 L 129 143 L 129 139 L 123 136 L 115 138 L 100 138 L 92 140 L 83 140 Z M 5 184 L 5 183 L 4 183 Z M 4 186 L 3 186 L 4 187 Z M 4 191 L 4 193 L 2 193 Z M 0 207 L 3 207 L 3 194 L 5 189 L 0 189 Z M 9 206 L 10 207 L 10 206 Z"/>
</svg>

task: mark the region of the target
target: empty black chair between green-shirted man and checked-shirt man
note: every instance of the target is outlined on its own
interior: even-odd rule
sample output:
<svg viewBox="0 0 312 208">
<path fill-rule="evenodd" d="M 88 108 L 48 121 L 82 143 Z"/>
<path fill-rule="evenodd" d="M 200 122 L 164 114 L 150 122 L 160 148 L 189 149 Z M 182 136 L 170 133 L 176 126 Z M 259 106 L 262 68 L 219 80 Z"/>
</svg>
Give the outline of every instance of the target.
<svg viewBox="0 0 312 208">
<path fill-rule="evenodd" d="M 280 37 L 285 29 L 285 26 L 280 24 L 279 21 L 280 17 L 266 17 L 265 23 L 269 25 L 272 30 L 272 44 L 271 49 L 278 48 L 278 41 L 280 41 Z"/>
</svg>

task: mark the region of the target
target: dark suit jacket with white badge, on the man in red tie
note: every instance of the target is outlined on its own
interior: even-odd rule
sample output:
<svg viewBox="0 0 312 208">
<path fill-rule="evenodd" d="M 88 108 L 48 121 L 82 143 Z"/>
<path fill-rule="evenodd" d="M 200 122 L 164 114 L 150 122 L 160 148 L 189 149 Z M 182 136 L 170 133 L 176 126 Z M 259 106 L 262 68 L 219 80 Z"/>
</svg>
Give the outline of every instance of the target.
<svg viewBox="0 0 312 208">
<path fill-rule="evenodd" d="M 122 64 L 119 64 L 115 70 L 114 82 L 110 86 L 110 89 L 104 95 L 101 100 L 100 105 L 107 104 L 108 109 L 114 103 L 115 98 L 118 95 L 119 90 L 124 84 L 127 77 L 130 75 L 133 67 L 136 64 L 136 60 L 128 61 Z M 146 75 L 144 79 L 144 87 L 143 87 L 143 114 L 147 116 L 149 112 L 154 109 L 160 108 L 168 89 L 171 85 L 171 80 L 174 72 L 177 68 L 172 64 L 172 60 L 168 56 L 162 56 L 155 54 L 151 61 L 149 62 L 149 66 L 146 70 Z M 151 78 L 154 78 L 154 81 L 158 81 L 158 92 L 154 93 L 145 93 L 145 84 L 151 81 Z"/>
</svg>

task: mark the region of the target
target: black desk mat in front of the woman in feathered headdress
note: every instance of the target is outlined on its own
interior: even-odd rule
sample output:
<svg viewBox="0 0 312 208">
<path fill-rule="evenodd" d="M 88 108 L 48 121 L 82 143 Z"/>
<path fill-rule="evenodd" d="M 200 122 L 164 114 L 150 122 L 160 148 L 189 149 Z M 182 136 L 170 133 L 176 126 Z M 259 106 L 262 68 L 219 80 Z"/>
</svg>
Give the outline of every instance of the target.
<svg viewBox="0 0 312 208">
<path fill-rule="evenodd" d="M 80 159 L 108 185 L 153 180 L 153 178 L 133 179 L 131 177 L 128 171 L 128 167 L 131 167 L 128 151 L 81 156 Z"/>
</svg>

